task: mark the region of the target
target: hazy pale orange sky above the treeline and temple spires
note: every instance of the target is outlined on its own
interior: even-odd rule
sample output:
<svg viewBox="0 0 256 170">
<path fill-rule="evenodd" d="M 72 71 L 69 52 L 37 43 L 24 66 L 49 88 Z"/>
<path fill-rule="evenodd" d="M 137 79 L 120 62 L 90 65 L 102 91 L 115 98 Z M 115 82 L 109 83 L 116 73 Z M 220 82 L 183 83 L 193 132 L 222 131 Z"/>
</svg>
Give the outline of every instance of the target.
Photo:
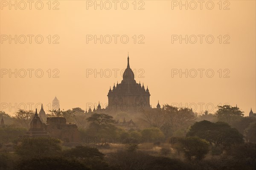
<svg viewBox="0 0 256 170">
<path fill-rule="evenodd" d="M 134 0 L 119 1 L 116 9 L 112 1 L 102 1 L 100 9 L 94 1 L 59 0 L 49 6 L 43 0 L 41 10 L 38 1 L 31 10 L 29 3 L 15 2 L 17 9 L 0 1 L 1 111 L 13 113 L 24 105 L 35 110 L 39 103 L 48 110 L 55 96 L 65 110 L 104 105 L 110 86 L 122 80 L 129 52 L 135 79 L 148 85 L 152 107 L 159 100 L 214 112 L 212 107 L 229 103 L 246 116 L 250 108 L 256 112 L 254 0 L 214 0 L 213 7 L 204 1 L 196 8 L 187 1 L 188 9 L 167 0 L 136 1 L 136 6 Z M 17 77 L 9 75 L 15 69 Z"/>
</svg>

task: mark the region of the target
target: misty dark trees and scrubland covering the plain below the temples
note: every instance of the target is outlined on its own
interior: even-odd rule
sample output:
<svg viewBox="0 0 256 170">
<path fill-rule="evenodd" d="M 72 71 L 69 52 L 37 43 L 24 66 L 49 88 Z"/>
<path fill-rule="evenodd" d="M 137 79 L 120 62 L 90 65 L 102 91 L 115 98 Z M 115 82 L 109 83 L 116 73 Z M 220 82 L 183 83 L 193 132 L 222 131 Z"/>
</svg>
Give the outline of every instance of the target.
<svg viewBox="0 0 256 170">
<path fill-rule="evenodd" d="M 218 106 L 215 113 L 168 104 L 136 115 L 88 114 L 81 108 L 48 111 L 48 117 L 75 123 L 80 142 L 24 137 L 34 114 L 0 111 L 0 170 L 256 168 L 256 118 L 230 105 Z"/>
</svg>

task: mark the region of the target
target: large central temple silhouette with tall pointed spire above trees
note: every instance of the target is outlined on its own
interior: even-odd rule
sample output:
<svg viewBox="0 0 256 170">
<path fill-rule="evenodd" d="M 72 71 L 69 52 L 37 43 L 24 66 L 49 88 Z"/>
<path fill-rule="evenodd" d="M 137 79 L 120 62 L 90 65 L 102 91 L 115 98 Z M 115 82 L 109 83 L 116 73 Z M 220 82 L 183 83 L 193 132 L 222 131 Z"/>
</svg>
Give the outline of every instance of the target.
<svg viewBox="0 0 256 170">
<path fill-rule="evenodd" d="M 108 113 L 115 112 L 143 112 L 151 109 L 161 109 L 159 102 L 157 108 L 151 108 L 150 93 L 148 86 L 145 89 L 144 84 L 136 82 L 134 79 L 134 72 L 130 67 L 129 54 L 127 58 L 127 68 L 123 73 L 121 83 L 116 83 L 113 88 L 108 91 L 108 106 L 101 108 L 100 104 L 97 108 L 89 108 L 86 113 L 99 113 L 102 111 Z"/>
</svg>

